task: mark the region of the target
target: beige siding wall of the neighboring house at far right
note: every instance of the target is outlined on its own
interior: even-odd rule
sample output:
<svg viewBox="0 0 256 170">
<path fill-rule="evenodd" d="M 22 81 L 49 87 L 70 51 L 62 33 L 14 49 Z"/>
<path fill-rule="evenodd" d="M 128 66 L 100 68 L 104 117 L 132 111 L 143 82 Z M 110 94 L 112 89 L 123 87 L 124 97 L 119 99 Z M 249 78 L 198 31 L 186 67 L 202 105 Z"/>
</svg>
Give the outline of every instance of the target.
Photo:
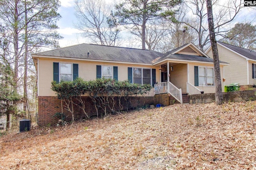
<svg viewBox="0 0 256 170">
<path fill-rule="evenodd" d="M 220 61 L 229 63 L 228 66 L 224 66 L 224 86 L 231 83 L 239 83 L 239 85 L 247 85 L 247 61 L 245 58 L 237 55 L 236 53 L 217 45 L 218 54 Z M 212 50 L 210 50 L 207 55 L 212 57 Z M 250 66 L 249 66 L 250 69 Z M 252 69 L 252 68 L 251 68 Z M 252 72 L 252 71 L 251 71 Z M 250 71 L 249 71 L 250 73 Z M 252 77 L 252 76 L 251 76 Z M 250 78 L 250 76 L 249 76 Z"/>
</svg>

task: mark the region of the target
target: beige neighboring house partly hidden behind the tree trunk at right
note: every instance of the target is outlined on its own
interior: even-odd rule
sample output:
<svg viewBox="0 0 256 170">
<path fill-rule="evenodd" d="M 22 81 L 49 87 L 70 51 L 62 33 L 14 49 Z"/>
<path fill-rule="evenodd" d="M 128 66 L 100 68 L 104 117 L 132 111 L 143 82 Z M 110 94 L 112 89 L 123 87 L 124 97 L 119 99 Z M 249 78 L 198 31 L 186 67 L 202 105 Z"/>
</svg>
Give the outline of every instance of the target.
<svg viewBox="0 0 256 170">
<path fill-rule="evenodd" d="M 256 52 L 217 41 L 220 61 L 229 63 L 223 70 L 223 86 L 239 83 L 240 86 L 256 84 Z M 212 58 L 212 48 L 205 52 Z"/>
</svg>

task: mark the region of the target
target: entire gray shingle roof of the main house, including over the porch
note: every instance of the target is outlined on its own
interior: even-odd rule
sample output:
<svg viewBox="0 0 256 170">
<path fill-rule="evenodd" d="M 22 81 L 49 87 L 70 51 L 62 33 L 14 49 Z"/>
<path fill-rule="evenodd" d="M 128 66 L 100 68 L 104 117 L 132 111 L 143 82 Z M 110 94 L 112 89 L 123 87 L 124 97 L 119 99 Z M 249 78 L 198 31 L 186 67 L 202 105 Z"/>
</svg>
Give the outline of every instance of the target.
<svg viewBox="0 0 256 170">
<path fill-rule="evenodd" d="M 184 47 L 178 47 L 168 53 L 159 53 L 156 51 L 132 49 L 125 47 L 112 47 L 105 45 L 96 44 L 79 44 L 70 47 L 64 47 L 60 49 L 54 49 L 37 53 L 36 55 L 41 56 L 52 56 L 52 57 L 64 57 L 64 58 L 75 58 L 75 59 L 91 59 L 101 61 L 115 61 L 115 62 L 128 62 L 128 63 L 141 63 L 141 64 L 152 64 L 164 59 L 178 59 L 187 61 L 202 61 L 212 62 L 213 59 L 208 57 L 201 57 L 195 55 L 184 55 L 184 54 L 172 54 L 174 51 Z M 90 53 L 87 55 L 87 53 Z M 225 62 L 221 62 L 225 63 Z"/>
</svg>

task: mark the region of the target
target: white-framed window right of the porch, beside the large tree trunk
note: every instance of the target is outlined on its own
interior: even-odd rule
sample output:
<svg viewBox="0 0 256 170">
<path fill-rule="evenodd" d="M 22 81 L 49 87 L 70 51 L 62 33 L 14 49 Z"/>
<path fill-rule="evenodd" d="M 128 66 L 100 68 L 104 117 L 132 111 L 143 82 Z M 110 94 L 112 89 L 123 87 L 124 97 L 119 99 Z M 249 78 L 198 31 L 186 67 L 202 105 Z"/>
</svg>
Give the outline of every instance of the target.
<svg viewBox="0 0 256 170">
<path fill-rule="evenodd" d="M 214 70 L 208 67 L 198 67 L 198 85 L 214 86 Z"/>
</svg>

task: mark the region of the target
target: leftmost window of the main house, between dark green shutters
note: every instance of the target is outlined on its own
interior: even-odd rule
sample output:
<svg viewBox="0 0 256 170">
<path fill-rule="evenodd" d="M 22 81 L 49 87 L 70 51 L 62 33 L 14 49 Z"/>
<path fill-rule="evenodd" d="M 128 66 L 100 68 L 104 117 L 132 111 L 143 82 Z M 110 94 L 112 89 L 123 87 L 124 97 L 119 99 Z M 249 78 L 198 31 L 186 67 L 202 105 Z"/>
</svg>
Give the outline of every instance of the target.
<svg viewBox="0 0 256 170">
<path fill-rule="evenodd" d="M 72 64 L 60 63 L 60 81 L 72 81 Z"/>
</svg>

